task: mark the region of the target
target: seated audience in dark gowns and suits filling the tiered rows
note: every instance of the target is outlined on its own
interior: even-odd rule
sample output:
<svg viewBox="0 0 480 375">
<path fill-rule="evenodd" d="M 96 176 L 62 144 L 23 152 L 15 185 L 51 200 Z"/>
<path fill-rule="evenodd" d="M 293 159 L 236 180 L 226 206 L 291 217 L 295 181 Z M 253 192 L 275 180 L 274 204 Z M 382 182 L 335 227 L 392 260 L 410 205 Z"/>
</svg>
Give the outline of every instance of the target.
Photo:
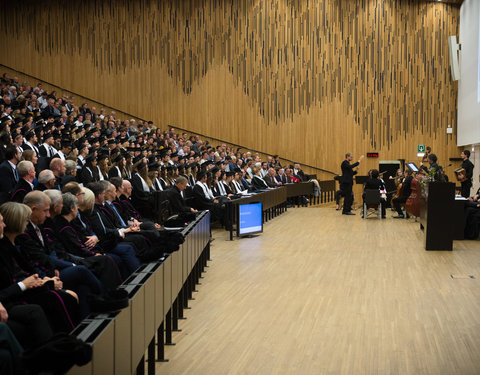
<svg viewBox="0 0 480 375">
<path fill-rule="evenodd" d="M 309 180 L 278 156 L 122 121 L 6 74 L 0 92 L 0 322 L 25 349 L 124 307 L 122 281 L 178 248 L 157 193 L 170 214 L 210 210 L 228 229 L 226 200 Z"/>
</svg>

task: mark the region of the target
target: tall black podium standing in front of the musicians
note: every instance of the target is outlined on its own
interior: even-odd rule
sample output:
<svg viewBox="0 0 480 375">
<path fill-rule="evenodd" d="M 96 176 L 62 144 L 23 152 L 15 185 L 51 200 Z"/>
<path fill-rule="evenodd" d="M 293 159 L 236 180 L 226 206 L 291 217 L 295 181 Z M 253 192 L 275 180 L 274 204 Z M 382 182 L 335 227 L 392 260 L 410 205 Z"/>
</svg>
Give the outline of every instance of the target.
<svg viewBox="0 0 480 375">
<path fill-rule="evenodd" d="M 425 233 L 425 250 L 452 250 L 455 184 L 430 182 L 427 198 L 420 199 L 420 229 Z"/>
</svg>

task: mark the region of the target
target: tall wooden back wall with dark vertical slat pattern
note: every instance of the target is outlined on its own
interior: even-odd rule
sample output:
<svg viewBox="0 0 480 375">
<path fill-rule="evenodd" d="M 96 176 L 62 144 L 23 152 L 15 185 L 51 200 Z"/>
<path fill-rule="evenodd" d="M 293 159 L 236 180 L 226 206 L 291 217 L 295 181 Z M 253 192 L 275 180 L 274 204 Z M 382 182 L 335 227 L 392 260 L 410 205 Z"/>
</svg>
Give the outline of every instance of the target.
<svg viewBox="0 0 480 375">
<path fill-rule="evenodd" d="M 0 63 L 161 125 L 338 170 L 458 156 L 447 36 L 416 0 L 1 2 Z M 377 160 L 368 160 L 366 168 Z"/>
</svg>

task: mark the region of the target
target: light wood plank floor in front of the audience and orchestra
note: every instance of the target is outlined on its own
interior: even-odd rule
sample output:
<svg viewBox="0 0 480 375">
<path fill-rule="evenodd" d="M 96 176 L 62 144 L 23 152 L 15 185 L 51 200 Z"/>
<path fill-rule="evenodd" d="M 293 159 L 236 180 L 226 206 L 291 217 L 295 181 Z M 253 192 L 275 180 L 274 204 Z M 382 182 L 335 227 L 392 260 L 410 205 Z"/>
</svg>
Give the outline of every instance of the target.
<svg viewBox="0 0 480 375">
<path fill-rule="evenodd" d="M 295 208 L 212 262 L 158 374 L 480 374 L 480 241 Z M 451 275 L 475 279 L 452 279 Z"/>
</svg>

